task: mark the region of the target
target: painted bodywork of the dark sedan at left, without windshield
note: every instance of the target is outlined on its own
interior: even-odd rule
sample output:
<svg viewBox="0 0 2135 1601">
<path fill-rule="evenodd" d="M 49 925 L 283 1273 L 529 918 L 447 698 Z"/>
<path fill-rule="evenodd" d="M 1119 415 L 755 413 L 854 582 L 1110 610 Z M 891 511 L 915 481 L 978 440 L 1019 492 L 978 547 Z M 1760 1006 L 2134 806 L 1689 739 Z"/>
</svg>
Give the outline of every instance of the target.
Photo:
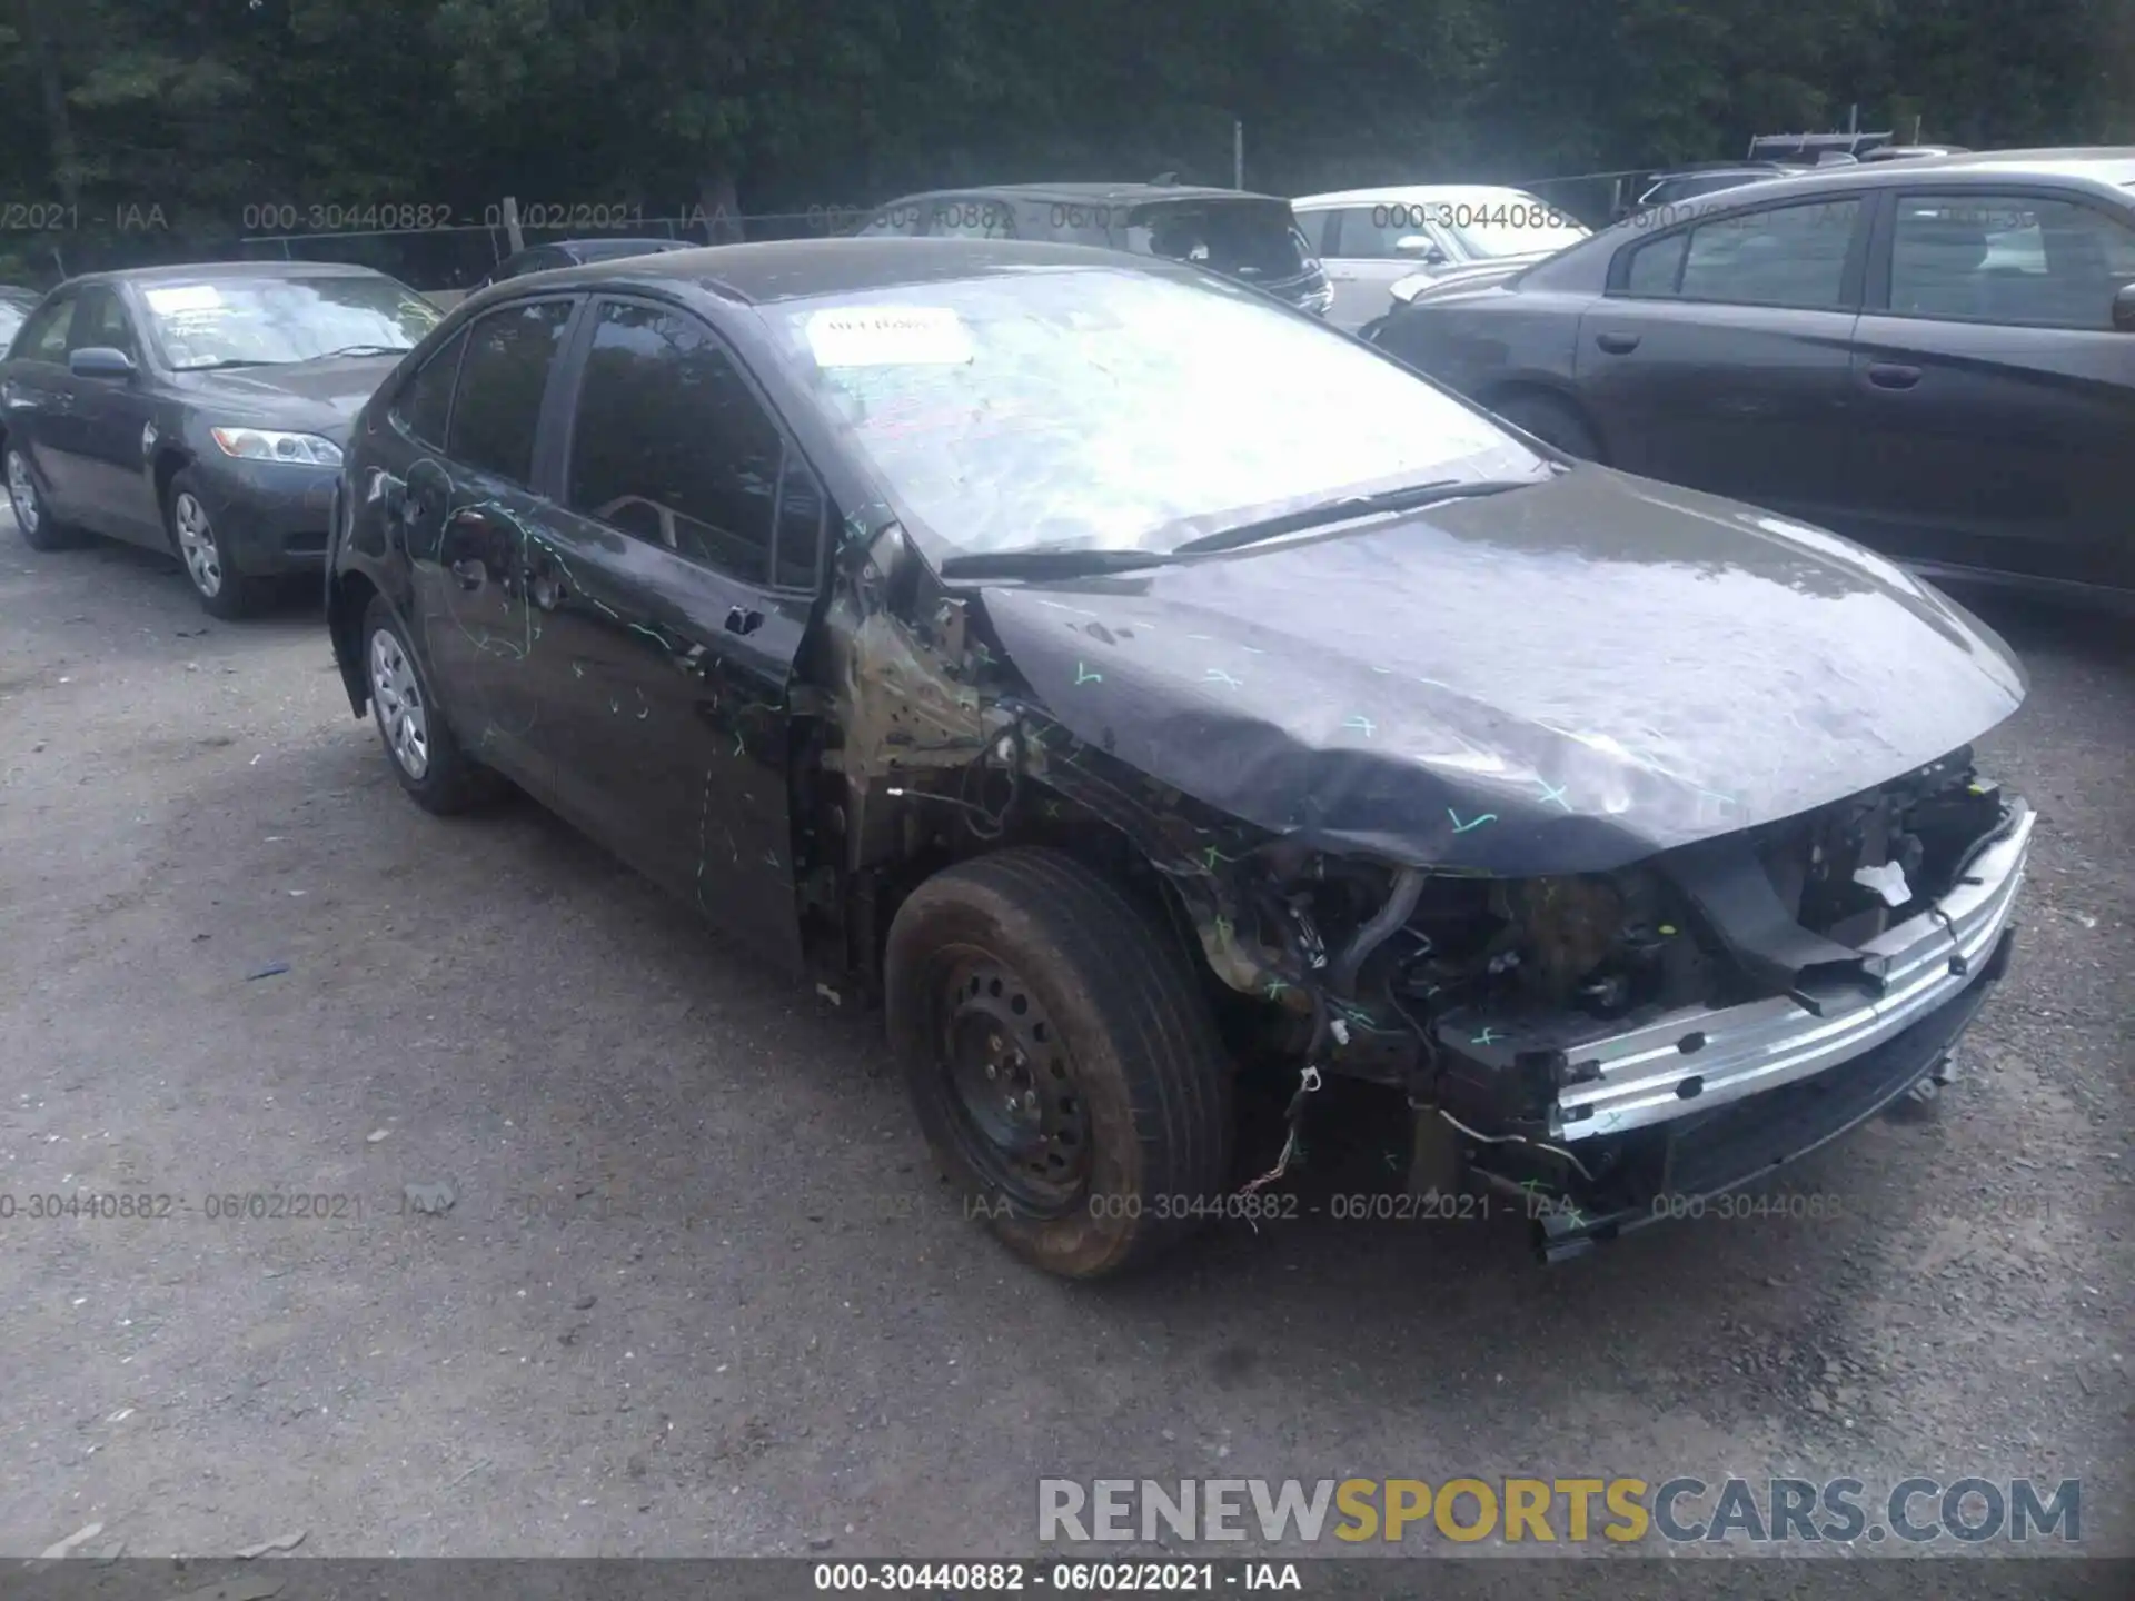
<svg viewBox="0 0 2135 1601">
<path fill-rule="evenodd" d="M 51 512 L 94 534 L 164 551 L 171 549 L 164 497 L 173 476 L 190 470 L 237 570 L 318 572 L 337 470 L 235 457 L 213 442 L 211 429 L 273 429 L 339 446 L 397 354 L 190 371 L 173 365 L 141 299 L 145 290 L 196 280 L 307 278 L 391 282 L 361 267 L 201 263 L 92 273 L 53 290 L 45 305 L 111 297 L 126 318 L 113 327 L 124 329 L 137 367 L 126 378 L 90 378 L 68 369 L 66 352 L 32 350 L 28 342 L 0 363 L 0 431 L 30 461 Z M 90 348 L 81 337 L 68 344 Z"/>
</svg>

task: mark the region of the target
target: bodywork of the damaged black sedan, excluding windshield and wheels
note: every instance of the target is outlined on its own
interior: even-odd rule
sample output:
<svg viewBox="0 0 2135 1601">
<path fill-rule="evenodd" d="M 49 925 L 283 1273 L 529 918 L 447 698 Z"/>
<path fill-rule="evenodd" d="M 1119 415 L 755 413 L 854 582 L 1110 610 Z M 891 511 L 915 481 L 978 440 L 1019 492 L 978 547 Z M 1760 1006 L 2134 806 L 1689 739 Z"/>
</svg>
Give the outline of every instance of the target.
<svg viewBox="0 0 2135 1601">
<path fill-rule="evenodd" d="M 1990 630 L 1819 529 L 1488 427 L 1539 474 L 1104 578 L 959 578 L 775 318 L 984 280 L 1027 337 L 995 290 L 1065 271 L 1166 278 L 1398 378 L 1193 269 L 1061 245 L 732 245 L 500 286 L 352 429 L 327 572 L 350 709 L 382 600 L 468 751 L 839 988 L 880 993 L 884 931 L 939 869 L 1072 854 L 1174 931 L 1255 1061 L 1405 1093 L 1411 1180 L 1546 1204 L 1552 1253 L 1672 1172 L 1740 1183 L 1941 1072 L 2033 826 L 1971 762 L 2024 696 Z M 1061 327 L 1089 282 L 1048 301 Z M 645 327 L 709 339 L 724 399 L 632 389 Z M 538 386 L 508 395 L 500 474 L 461 459 L 461 435 L 495 444 L 461 408 L 525 337 Z M 591 504 L 581 444 L 636 453 L 653 416 L 724 440 L 766 553 L 692 546 L 666 491 Z M 1721 1172 L 1731 1136 L 1685 1155 L 1734 1127 L 1691 1112 L 1755 1121 L 1778 1084 L 1808 1110 L 1751 1166 Z"/>
</svg>

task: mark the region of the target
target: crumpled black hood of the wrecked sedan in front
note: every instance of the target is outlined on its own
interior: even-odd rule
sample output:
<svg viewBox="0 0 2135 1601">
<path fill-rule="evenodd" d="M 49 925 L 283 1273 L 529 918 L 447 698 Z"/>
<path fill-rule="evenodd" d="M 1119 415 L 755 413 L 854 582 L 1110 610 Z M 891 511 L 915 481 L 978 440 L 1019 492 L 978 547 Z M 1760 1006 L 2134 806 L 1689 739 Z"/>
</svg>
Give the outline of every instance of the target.
<svg viewBox="0 0 2135 1601">
<path fill-rule="evenodd" d="M 1050 713 L 1142 773 L 1322 850 L 1509 875 L 1857 794 L 2026 689 L 1889 561 L 1597 465 L 984 606 Z"/>
</svg>

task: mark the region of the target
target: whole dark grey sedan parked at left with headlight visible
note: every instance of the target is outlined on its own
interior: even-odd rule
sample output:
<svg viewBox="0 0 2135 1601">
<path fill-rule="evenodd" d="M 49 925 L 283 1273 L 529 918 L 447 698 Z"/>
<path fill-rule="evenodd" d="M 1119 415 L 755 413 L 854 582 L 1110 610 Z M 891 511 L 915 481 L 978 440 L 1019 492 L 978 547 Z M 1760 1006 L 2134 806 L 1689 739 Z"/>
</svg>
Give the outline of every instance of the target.
<svg viewBox="0 0 2135 1601">
<path fill-rule="evenodd" d="M 169 549 L 201 604 L 318 572 L 348 421 L 438 322 L 367 267 L 196 263 L 51 290 L 0 361 L 0 455 L 32 549 Z"/>
</svg>

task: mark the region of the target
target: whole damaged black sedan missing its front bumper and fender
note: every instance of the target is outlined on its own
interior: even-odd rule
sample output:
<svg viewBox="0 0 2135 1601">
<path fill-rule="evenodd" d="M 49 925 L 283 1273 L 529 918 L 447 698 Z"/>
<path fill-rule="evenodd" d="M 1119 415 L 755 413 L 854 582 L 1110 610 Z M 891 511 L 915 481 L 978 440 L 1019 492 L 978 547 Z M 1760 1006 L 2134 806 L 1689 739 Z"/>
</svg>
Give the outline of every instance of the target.
<svg viewBox="0 0 2135 1601">
<path fill-rule="evenodd" d="M 2022 670 L 1896 566 L 1068 245 L 506 286 L 359 418 L 327 589 L 421 805 L 508 777 L 877 995 L 1072 1277 L 1281 1193 L 1337 1076 L 1548 1255 L 1740 1187 L 1947 1074 L 2033 833 Z"/>
</svg>

